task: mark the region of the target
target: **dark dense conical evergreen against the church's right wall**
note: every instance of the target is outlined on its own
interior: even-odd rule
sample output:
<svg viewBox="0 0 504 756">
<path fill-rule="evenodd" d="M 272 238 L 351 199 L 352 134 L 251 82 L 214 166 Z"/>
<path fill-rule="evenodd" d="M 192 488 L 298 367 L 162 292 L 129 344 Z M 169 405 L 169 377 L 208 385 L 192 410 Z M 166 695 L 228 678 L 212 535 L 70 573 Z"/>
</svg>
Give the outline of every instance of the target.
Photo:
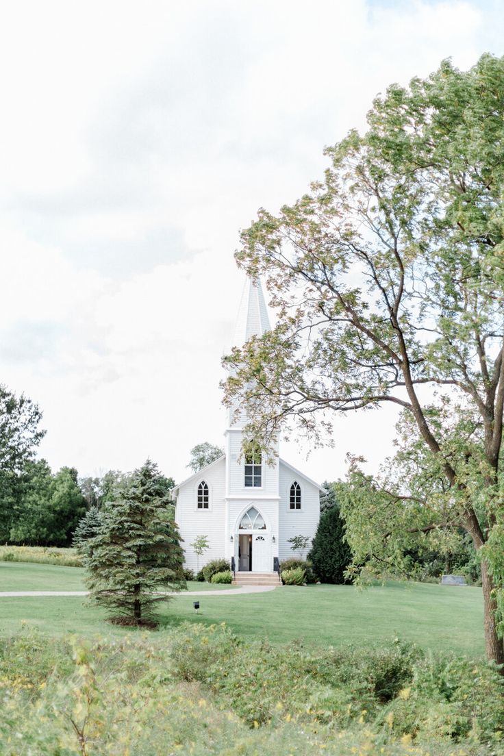
<svg viewBox="0 0 504 756">
<path fill-rule="evenodd" d="M 344 541 L 345 525 L 337 505 L 320 516 L 308 559 L 322 583 L 347 583 L 345 569 L 351 562 L 351 550 Z"/>
</svg>

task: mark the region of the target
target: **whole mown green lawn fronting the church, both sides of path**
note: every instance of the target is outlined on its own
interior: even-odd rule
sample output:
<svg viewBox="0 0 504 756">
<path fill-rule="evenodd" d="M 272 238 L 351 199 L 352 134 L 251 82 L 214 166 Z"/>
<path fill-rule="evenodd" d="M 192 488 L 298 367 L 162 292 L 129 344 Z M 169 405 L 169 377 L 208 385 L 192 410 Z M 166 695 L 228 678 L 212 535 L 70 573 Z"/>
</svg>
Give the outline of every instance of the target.
<svg viewBox="0 0 504 756">
<path fill-rule="evenodd" d="M 204 585 L 190 587 L 201 590 Z M 82 587 L 82 570 L 75 567 L 0 564 L 0 590 Z M 184 593 L 169 606 L 161 603 L 161 626 L 227 622 L 244 637 L 267 637 L 272 643 L 302 639 L 309 646 L 366 645 L 399 637 L 424 648 L 473 656 L 484 652 L 483 600 L 477 587 L 389 583 L 360 591 L 351 586 L 314 585 L 244 596 L 202 596 L 200 603 L 199 615 L 194 612 L 193 597 Z M 135 632 L 114 627 L 104 617 L 102 609 L 85 606 L 80 597 L 0 599 L 1 634 L 16 632 L 21 620 L 51 635 Z"/>
</svg>

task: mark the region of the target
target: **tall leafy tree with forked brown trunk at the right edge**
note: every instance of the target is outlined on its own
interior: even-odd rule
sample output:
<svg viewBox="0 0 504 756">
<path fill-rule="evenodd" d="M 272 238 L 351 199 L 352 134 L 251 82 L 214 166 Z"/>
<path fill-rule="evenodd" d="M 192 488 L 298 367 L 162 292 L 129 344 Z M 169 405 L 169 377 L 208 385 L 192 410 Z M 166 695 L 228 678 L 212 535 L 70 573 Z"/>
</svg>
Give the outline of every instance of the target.
<svg viewBox="0 0 504 756">
<path fill-rule="evenodd" d="M 237 260 L 278 320 L 233 350 L 226 399 L 264 447 L 286 424 L 320 442 L 331 411 L 404 410 L 437 482 L 417 496 L 397 476 L 378 519 L 394 506 L 404 530 L 470 534 L 502 663 L 504 58 L 392 85 L 367 123 L 326 150 L 309 194 L 243 231 Z"/>
</svg>

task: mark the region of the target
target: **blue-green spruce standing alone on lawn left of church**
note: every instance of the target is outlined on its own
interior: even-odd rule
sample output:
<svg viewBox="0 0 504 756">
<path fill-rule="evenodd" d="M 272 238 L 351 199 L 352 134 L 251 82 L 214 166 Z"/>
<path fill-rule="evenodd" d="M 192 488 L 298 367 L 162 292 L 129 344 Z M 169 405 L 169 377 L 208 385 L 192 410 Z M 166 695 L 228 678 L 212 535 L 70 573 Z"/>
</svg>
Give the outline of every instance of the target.
<svg viewBox="0 0 504 756">
<path fill-rule="evenodd" d="M 91 600 L 113 609 L 112 621 L 153 624 L 165 591 L 185 587 L 178 528 L 157 466 L 147 460 L 102 510 L 100 532 L 85 549 Z"/>
</svg>

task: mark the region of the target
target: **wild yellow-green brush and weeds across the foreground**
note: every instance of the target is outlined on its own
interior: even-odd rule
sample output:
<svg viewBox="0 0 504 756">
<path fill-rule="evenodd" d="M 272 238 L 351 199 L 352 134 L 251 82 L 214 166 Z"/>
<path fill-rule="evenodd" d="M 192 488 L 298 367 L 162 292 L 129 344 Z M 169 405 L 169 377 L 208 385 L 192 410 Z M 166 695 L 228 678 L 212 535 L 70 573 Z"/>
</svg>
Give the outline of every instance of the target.
<svg viewBox="0 0 504 756">
<path fill-rule="evenodd" d="M 399 641 L 317 649 L 224 625 L 0 643 L 0 754 L 489 754 L 493 665 Z M 488 702 L 492 702 L 489 706 Z"/>
</svg>

